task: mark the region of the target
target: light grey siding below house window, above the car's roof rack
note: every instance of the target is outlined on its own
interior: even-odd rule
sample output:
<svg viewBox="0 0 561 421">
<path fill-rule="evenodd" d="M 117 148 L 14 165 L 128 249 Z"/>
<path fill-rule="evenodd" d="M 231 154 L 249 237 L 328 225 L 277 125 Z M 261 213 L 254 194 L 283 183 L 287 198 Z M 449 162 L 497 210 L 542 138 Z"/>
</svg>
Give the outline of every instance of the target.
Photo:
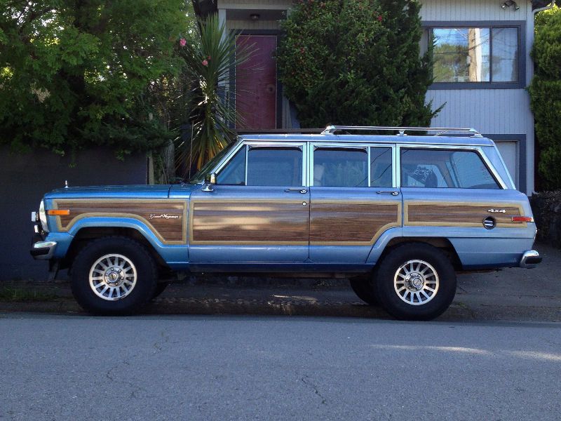
<svg viewBox="0 0 561 421">
<path fill-rule="evenodd" d="M 433 108 L 445 104 L 433 127 L 469 126 L 481 133 L 529 133 L 532 114 L 523 89 L 428 91 Z"/>
</svg>

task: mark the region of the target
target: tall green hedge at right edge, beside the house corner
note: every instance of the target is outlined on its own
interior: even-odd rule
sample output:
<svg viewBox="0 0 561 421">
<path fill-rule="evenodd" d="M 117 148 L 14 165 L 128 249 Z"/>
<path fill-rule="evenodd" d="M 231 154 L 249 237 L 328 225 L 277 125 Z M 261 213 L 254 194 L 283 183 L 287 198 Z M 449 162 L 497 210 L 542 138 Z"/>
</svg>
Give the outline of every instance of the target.
<svg viewBox="0 0 561 421">
<path fill-rule="evenodd" d="M 532 58 L 535 75 L 529 87 L 536 119 L 539 172 L 547 188 L 561 188 L 561 13 L 551 15 L 536 34 Z"/>
</svg>

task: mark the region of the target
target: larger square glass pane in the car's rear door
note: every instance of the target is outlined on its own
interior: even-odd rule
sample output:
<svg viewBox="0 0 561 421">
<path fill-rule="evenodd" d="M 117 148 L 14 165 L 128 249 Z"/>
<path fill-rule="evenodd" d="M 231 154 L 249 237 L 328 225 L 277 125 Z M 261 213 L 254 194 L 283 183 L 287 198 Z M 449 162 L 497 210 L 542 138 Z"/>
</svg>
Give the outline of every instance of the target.
<svg viewBox="0 0 561 421">
<path fill-rule="evenodd" d="M 368 153 L 364 149 L 320 147 L 313 152 L 313 185 L 368 187 Z"/>
</svg>

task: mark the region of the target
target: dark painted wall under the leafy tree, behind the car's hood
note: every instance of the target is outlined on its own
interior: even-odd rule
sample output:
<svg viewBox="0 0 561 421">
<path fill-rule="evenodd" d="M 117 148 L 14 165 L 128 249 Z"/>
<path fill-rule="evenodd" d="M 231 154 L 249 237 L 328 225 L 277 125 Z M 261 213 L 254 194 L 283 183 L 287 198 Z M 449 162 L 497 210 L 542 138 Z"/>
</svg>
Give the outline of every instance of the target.
<svg viewBox="0 0 561 421">
<path fill-rule="evenodd" d="M 70 186 L 146 184 L 147 157 L 115 158 L 107 149 L 79 152 L 70 167 L 69 157 L 47 151 L 12 154 L 0 147 L 0 281 L 44 280 L 48 263 L 29 255 L 33 235 L 31 212 L 39 210 L 46 192 Z"/>
</svg>

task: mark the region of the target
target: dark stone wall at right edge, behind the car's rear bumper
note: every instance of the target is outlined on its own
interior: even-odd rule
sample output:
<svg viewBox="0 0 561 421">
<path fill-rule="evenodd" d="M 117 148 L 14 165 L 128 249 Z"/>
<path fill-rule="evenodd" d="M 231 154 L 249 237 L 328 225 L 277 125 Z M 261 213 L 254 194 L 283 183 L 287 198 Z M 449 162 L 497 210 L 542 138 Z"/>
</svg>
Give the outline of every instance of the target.
<svg viewBox="0 0 561 421">
<path fill-rule="evenodd" d="M 561 248 L 561 190 L 536 193 L 530 198 L 538 241 Z"/>
</svg>

